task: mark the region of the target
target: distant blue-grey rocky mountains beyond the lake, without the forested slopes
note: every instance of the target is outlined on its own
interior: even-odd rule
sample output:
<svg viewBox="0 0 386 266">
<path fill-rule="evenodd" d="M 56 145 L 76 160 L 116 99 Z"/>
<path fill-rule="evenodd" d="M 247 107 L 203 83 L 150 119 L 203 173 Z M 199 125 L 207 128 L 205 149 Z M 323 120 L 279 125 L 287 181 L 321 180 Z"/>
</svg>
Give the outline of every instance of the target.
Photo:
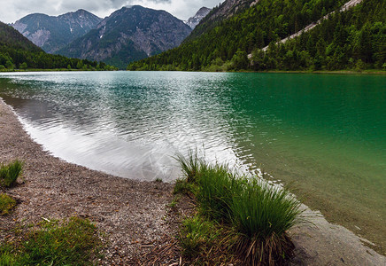
<svg viewBox="0 0 386 266">
<path fill-rule="evenodd" d="M 168 12 L 135 5 L 104 20 L 78 10 L 58 17 L 29 14 L 11 26 L 49 53 L 125 68 L 134 60 L 177 47 L 208 12 L 203 7 L 184 24 Z"/>
</svg>

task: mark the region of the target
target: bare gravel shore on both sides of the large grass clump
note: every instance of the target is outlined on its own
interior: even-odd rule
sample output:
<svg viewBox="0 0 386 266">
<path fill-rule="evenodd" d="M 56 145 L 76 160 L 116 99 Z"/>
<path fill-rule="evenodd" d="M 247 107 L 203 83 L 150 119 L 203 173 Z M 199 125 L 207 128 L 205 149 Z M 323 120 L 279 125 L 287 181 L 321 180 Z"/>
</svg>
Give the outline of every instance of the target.
<svg viewBox="0 0 386 266">
<path fill-rule="evenodd" d="M 175 235 L 178 226 L 165 221 L 173 184 L 111 176 L 55 158 L 29 137 L 1 98 L 0 152 L 1 162 L 25 162 L 23 184 L 10 191 L 21 203 L 12 215 L 0 216 L 2 227 L 11 228 L 24 219 L 24 223 L 37 223 L 42 217 L 88 217 L 110 240 L 105 263 L 132 262 L 148 251 L 141 245 L 159 246 L 165 244 L 165 236 Z M 384 256 L 363 245 L 351 231 L 303 207 L 313 224 L 289 231 L 296 246 L 293 265 L 386 264 Z M 1 230 L 0 239 L 6 234 Z"/>
</svg>

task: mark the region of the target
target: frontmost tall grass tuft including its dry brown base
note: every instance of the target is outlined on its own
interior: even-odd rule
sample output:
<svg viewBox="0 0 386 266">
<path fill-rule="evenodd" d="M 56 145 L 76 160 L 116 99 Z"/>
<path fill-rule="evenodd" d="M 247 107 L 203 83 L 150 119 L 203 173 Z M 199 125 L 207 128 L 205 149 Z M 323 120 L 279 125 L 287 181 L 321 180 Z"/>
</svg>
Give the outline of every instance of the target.
<svg viewBox="0 0 386 266">
<path fill-rule="evenodd" d="M 231 209 L 239 234 L 235 252 L 249 265 L 280 265 L 291 255 L 286 235 L 299 221 L 300 202 L 282 188 L 261 179 L 244 179 Z"/>
</svg>

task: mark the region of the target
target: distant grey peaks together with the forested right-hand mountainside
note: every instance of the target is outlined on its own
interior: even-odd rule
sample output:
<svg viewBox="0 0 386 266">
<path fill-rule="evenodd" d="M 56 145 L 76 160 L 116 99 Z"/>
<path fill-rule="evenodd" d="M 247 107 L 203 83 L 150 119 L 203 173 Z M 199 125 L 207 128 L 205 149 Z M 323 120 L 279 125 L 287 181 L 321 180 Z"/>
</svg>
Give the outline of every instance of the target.
<svg viewBox="0 0 386 266">
<path fill-rule="evenodd" d="M 200 9 L 186 24 L 167 12 L 135 5 L 104 20 L 85 11 L 72 17 L 31 14 L 13 27 L 44 50 L 68 57 L 104 60 L 120 68 L 143 59 L 130 64 L 130 70 L 386 67 L 385 1 L 292 2 L 225 0 L 210 11 Z M 62 35 L 73 35 L 54 37 L 48 24 L 65 17 L 71 18 L 61 24 L 66 25 Z M 79 35 L 77 25 L 84 30 Z"/>
</svg>

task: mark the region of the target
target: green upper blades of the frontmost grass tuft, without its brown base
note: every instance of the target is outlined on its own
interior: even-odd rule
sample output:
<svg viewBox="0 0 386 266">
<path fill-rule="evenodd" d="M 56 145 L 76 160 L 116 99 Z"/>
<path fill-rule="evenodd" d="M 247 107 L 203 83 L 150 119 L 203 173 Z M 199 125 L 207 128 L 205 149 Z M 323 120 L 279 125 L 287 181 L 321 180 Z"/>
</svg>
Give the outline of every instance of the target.
<svg viewBox="0 0 386 266">
<path fill-rule="evenodd" d="M 235 226 L 251 239 L 281 236 L 300 215 L 300 202 L 259 178 L 241 179 L 231 209 Z"/>
</svg>

